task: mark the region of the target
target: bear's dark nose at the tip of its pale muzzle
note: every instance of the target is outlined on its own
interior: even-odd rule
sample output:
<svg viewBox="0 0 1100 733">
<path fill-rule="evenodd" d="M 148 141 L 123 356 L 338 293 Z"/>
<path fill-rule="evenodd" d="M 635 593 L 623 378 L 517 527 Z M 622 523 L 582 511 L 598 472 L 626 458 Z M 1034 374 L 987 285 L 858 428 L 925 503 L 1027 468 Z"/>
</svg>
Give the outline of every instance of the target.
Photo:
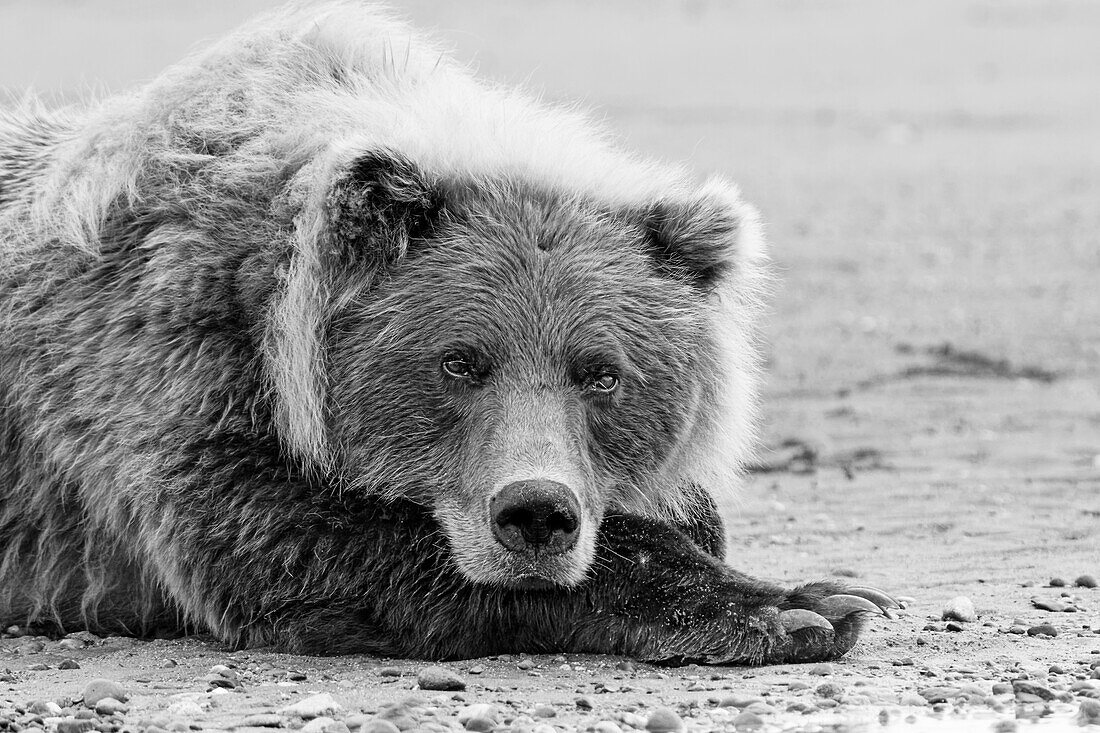
<svg viewBox="0 0 1100 733">
<path fill-rule="evenodd" d="M 490 501 L 493 536 L 514 553 L 560 555 L 576 544 L 581 507 L 557 481 L 509 483 Z"/>
</svg>

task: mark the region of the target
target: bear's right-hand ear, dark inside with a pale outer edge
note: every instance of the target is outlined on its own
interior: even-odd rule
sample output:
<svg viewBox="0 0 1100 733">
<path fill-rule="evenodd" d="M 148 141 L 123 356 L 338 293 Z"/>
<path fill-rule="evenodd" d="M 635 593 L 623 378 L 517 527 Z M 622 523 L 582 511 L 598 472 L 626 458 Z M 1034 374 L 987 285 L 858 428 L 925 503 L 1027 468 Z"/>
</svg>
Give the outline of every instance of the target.
<svg viewBox="0 0 1100 733">
<path fill-rule="evenodd" d="M 662 272 L 711 291 L 739 263 L 761 256 L 756 211 L 735 186 L 707 182 L 682 198 L 658 201 L 646 211 L 649 253 Z"/>
</svg>

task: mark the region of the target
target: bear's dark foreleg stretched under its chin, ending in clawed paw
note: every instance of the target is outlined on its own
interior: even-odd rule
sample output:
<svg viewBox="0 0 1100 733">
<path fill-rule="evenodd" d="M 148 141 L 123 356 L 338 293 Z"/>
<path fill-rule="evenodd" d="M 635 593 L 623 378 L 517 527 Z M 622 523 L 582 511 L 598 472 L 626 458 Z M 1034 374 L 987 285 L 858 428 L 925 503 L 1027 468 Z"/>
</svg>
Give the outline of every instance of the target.
<svg viewBox="0 0 1100 733">
<path fill-rule="evenodd" d="M 339 592 L 318 603 L 302 594 L 264 614 L 277 645 L 428 658 L 574 652 L 813 661 L 843 655 L 868 614 L 898 608 L 873 589 L 787 591 L 732 570 L 676 527 L 625 515 L 605 518 L 595 562 L 575 588 L 475 584 L 422 508 L 380 503 L 359 516 L 356 536 L 345 535 L 339 557 L 329 556 L 330 577 L 344 578 Z"/>
</svg>

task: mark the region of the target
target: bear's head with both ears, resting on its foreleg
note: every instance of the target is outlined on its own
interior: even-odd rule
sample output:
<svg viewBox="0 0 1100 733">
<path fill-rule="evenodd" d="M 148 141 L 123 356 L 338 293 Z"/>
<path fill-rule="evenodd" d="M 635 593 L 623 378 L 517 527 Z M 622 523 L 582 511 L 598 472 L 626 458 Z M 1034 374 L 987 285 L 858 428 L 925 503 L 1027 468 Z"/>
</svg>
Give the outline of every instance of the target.
<svg viewBox="0 0 1100 733">
<path fill-rule="evenodd" d="M 539 587 L 585 577 L 607 514 L 736 480 L 762 253 L 735 189 L 610 204 L 388 150 L 328 179 L 276 361 L 287 441 L 342 491 L 429 508 L 475 582 Z"/>
</svg>

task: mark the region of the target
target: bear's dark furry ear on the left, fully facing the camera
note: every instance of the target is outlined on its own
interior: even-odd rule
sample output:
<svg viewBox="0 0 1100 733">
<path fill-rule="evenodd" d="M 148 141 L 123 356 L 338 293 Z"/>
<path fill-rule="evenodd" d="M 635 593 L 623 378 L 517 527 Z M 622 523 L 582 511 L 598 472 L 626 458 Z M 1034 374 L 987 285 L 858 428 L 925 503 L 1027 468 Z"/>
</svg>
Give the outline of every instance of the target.
<svg viewBox="0 0 1100 733">
<path fill-rule="evenodd" d="M 328 210 L 328 256 L 344 267 L 381 270 L 402 260 L 410 240 L 431 232 L 442 194 L 404 155 L 372 151 L 338 174 Z"/>
</svg>

